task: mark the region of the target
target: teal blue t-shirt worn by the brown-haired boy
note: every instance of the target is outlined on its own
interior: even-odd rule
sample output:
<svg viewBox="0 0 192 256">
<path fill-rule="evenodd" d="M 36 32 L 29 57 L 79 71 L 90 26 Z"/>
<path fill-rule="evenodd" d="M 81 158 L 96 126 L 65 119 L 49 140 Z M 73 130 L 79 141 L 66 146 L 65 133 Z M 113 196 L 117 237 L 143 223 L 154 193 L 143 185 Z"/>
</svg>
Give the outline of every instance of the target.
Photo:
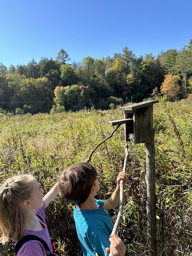
<svg viewBox="0 0 192 256">
<path fill-rule="evenodd" d="M 113 230 L 110 215 L 103 208 L 104 201 L 95 199 L 99 207 L 94 210 L 78 210 L 74 206 L 76 231 L 84 256 L 106 256 L 105 248 L 110 246 L 109 236 Z"/>
</svg>

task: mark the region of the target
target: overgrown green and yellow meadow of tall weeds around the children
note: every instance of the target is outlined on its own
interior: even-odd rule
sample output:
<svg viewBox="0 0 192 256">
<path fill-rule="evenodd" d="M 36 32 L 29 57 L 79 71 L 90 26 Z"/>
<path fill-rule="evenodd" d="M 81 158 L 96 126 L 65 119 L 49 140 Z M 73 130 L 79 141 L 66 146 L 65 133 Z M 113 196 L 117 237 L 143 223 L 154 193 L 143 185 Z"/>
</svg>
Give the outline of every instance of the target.
<svg viewBox="0 0 192 256">
<path fill-rule="evenodd" d="M 119 109 L 84 109 L 58 114 L 0 114 L 0 182 L 31 173 L 46 193 L 62 169 L 87 159 L 113 130 L 106 121 L 122 119 Z M 156 150 L 157 255 L 192 255 L 192 101 L 154 105 Z M 147 131 L 146 131 L 147 132 Z M 124 163 L 124 126 L 102 144 L 91 163 L 99 174 L 97 198 L 108 198 Z M 128 143 L 128 183 L 118 235 L 130 256 L 147 255 L 145 146 Z M 117 210 L 109 211 L 113 221 Z M 82 255 L 73 220 L 73 204 L 59 196 L 46 208 L 57 252 Z M 14 243 L 0 245 L 1 256 L 14 255 Z"/>
</svg>

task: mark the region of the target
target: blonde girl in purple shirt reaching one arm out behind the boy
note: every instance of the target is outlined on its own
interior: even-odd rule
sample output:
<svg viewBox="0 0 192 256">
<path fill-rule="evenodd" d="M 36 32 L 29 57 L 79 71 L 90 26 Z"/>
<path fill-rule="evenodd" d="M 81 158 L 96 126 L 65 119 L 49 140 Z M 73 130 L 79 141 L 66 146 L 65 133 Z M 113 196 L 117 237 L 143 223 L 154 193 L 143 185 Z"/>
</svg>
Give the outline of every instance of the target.
<svg viewBox="0 0 192 256">
<path fill-rule="evenodd" d="M 58 194 L 56 183 L 43 197 L 43 189 L 32 175 L 21 174 L 6 180 L 0 187 L 0 229 L 3 233 L 0 243 L 14 239 L 17 248 L 23 236 L 34 235 L 43 239 L 48 248 L 37 240 L 30 240 L 20 247 L 17 256 L 52 254 L 44 209 Z"/>
</svg>

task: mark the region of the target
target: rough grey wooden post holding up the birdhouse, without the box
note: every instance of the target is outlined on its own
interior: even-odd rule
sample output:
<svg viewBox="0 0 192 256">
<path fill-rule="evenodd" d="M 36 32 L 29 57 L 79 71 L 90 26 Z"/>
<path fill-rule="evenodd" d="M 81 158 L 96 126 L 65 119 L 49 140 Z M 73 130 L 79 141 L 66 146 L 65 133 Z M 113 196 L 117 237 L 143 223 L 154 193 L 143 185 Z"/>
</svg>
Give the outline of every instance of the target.
<svg viewBox="0 0 192 256">
<path fill-rule="evenodd" d="M 155 147 L 154 131 L 151 141 L 145 143 L 146 147 L 146 175 L 147 185 L 147 233 L 148 233 L 148 254 L 156 255 L 156 192 L 155 192 Z"/>
</svg>

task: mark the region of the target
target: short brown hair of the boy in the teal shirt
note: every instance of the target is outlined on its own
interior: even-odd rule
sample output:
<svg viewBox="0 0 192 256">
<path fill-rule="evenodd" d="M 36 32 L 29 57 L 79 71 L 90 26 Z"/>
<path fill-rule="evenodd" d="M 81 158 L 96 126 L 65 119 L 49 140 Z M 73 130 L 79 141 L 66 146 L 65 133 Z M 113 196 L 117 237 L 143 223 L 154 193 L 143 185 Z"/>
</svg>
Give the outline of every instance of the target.
<svg viewBox="0 0 192 256">
<path fill-rule="evenodd" d="M 96 179 L 97 171 L 92 164 L 74 164 L 60 175 L 60 195 L 80 206 L 87 200 Z"/>
</svg>

